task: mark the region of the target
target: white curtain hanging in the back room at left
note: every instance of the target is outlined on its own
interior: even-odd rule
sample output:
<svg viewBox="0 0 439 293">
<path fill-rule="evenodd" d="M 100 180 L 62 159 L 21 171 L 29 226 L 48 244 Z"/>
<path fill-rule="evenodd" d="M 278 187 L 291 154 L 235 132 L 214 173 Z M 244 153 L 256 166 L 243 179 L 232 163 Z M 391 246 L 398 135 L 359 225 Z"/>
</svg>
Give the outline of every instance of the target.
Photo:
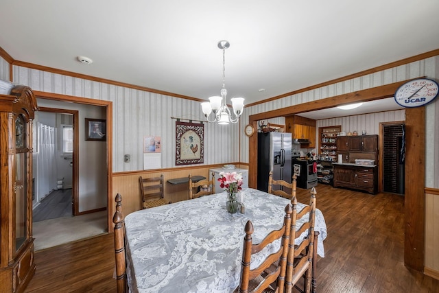
<svg viewBox="0 0 439 293">
<path fill-rule="evenodd" d="M 55 129 L 38 122 L 38 194 L 44 198 L 56 189 Z"/>
</svg>

